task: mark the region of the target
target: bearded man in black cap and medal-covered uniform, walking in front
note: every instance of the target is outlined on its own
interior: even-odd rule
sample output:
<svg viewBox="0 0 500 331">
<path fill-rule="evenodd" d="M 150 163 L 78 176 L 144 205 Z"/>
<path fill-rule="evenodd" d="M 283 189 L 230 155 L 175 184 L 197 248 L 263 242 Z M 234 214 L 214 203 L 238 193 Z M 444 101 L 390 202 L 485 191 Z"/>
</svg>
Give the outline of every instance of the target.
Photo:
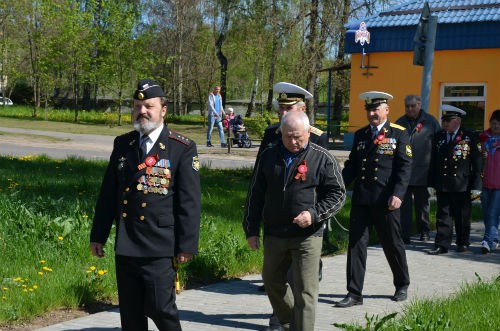
<svg viewBox="0 0 500 331">
<path fill-rule="evenodd" d="M 181 330 L 175 304 L 174 260 L 198 251 L 200 178 L 196 145 L 170 131 L 167 99 L 150 79 L 139 81 L 132 118 L 136 131 L 119 136 L 104 174 L 90 249 L 104 256 L 116 223 L 116 278 L 122 330 Z"/>
</svg>

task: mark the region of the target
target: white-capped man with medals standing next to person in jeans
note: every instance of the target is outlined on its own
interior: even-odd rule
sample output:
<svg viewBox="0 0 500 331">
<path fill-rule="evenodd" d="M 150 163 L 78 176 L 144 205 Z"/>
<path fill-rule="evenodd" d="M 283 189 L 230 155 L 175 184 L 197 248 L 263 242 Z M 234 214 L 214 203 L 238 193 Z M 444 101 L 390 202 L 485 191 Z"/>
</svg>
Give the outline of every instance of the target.
<svg viewBox="0 0 500 331">
<path fill-rule="evenodd" d="M 465 252 L 470 244 L 471 193 L 481 190 L 482 152 L 479 137 L 462 127 L 466 112 L 451 105 L 441 106 L 443 130 L 436 135 L 435 188 L 437 198 L 436 240 L 431 255 L 448 252 L 453 237 L 453 221 L 457 235 L 457 252 Z"/>
</svg>

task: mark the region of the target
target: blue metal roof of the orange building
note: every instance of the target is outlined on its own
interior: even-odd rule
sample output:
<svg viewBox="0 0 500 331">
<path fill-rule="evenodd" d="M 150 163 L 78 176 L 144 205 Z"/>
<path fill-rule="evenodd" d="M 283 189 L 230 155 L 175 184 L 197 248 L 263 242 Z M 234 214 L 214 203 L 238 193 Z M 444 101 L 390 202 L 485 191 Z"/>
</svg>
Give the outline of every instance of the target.
<svg viewBox="0 0 500 331">
<path fill-rule="evenodd" d="M 436 50 L 500 48 L 500 0 L 428 0 L 438 17 Z M 346 52 L 360 53 L 354 34 L 365 22 L 371 35 L 367 52 L 413 50 L 413 36 L 425 1 L 411 1 L 346 24 Z"/>
</svg>

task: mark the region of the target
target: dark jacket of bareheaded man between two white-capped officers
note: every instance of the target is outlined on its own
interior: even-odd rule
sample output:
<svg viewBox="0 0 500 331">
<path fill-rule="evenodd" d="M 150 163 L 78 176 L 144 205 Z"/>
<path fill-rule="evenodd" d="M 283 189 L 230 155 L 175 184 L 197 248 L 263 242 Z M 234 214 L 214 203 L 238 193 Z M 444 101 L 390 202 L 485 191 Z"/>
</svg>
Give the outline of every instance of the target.
<svg viewBox="0 0 500 331">
<path fill-rule="evenodd" d="M 406 128 L 410 136 L 413 152 L 410 186 L 430 186 L 433 182 L 430 171 L 433 164 L 434 136 L 441 130 L 438 121 L 429 113 L 421 110 L 415 120 L 406 115 L 401 116 L 396 124 Z"/>
</svg>

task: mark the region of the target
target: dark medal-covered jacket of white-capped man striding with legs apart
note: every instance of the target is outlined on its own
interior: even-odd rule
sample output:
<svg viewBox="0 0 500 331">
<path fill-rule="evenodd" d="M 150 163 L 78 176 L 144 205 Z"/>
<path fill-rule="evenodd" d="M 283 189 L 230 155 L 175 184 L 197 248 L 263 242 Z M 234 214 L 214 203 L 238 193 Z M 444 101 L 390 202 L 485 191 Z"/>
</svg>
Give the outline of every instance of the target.
<svg viewBox="0 0 500 331">
<path fill-rule="evenodd" d="M 384 132 L 383 137 L 380 137 Z M 391 196 L 403 200 L 411 175 L 412 150 L 405 128 L 387 121 L 381 140 L 371 137 L 370 126 L 354 134 L 342 176 L 353 184 L 353 205 L 387 206 Z"/>
</svg>

